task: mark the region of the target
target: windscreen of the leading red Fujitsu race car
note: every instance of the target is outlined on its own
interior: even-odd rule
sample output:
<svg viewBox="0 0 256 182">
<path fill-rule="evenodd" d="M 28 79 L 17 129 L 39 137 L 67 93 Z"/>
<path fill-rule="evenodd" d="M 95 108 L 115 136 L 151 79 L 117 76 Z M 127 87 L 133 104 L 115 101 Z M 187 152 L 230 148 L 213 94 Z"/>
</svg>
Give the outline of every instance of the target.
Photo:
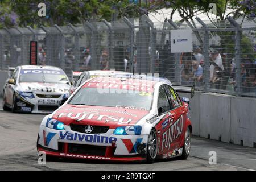
<svg viewBox="0 0 256 182">
<path fill-rule="evenodd" d="M 105 90 L 106 91 L 106 90 Z M 93 105 L 150 110 L 153 93 L 120 89 L 99 92 L 97 88 L 81 88 L 69 101 L 73 105 Z"/>
</svg>

